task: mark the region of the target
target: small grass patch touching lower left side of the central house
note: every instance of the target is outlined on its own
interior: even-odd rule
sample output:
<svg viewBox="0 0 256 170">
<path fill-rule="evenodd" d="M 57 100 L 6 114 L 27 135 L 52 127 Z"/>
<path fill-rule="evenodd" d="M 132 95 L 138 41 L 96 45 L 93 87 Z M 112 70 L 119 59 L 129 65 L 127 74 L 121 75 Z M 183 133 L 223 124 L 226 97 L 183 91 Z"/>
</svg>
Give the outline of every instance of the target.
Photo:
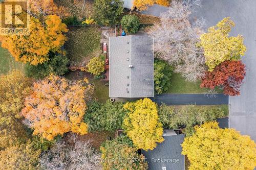
<svg viewBox="0 0 256 170">
<path fill-rule="evenodd" d="M 105 86 L 104 83 L 98 79 L 91 79 L 90 80 L 94 84 L 94 92 L 95 92 L 95 98 L 99 102 L 105 102 L 109 99 L 109 86 Z"/>
</svg>

